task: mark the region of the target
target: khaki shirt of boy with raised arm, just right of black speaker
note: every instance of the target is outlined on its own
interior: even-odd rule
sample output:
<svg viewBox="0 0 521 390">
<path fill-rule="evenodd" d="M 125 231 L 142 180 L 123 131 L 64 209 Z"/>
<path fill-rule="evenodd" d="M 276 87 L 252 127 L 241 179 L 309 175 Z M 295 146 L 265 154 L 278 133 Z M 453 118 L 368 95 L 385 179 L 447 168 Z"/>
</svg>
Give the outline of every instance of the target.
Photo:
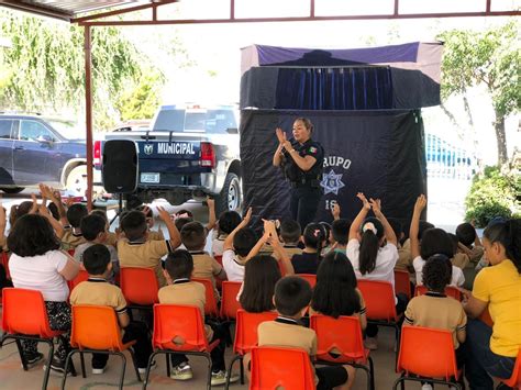
<svg viewBox="0 0 521 390">
<path fill-rule="evenodd" d="M 160 259 L 171 250 L 169 241 L 118 242 L 120 267 L 154 268 L 159 287 L 166 285 Z"/>
</svg>

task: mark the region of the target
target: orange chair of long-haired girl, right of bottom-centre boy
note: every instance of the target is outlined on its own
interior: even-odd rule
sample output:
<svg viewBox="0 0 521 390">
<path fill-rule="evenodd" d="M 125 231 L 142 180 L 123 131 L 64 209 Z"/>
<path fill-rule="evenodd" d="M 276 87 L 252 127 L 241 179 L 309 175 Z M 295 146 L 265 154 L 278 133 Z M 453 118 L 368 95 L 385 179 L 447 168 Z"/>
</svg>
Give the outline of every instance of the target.
<svg viewBox="0 0 521 390">
<path fill-rule="evenodd" d="M 369 349 L 364 347 L 358 317 L 342 315 L 333 319 L 313 314 L 309 327 L 317 332 L 317 364 L 351 365 L 362 368 L 367 374 L 367 389 L 375 388 L 375 368 Z"/>
</svg>

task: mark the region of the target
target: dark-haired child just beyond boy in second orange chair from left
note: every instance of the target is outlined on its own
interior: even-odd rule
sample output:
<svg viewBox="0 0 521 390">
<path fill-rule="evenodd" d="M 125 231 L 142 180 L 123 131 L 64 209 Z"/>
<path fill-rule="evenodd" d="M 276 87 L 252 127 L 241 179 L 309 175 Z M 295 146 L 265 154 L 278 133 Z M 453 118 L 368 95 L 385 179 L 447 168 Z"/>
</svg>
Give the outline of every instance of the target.
<svg viewBox="0 0 521 390">
<path fill-rule="evenodd" d="M 103 244 L 107 246 L 107 249 L 109 249 L 110 261 L 112 263 L 112 270 L 109 274 L 108 280 L 113 283 L 114 276 L 120 271 L 120 261 L 118 259 L 118 252 L 115 252 L 115 248 L 112 245 L 108 245 L 106 242 L 107 222 L 99 214 L 91 213 L 90 215 L 84 216 L 80 226 L 81 233 L 84 234 L 84 237 L 87 239 L 87 242 L 76 247 L 74 258 L 79 263 L 84 263 L 85 250 L 90 248 L 92 245 Z"/>
</svg>

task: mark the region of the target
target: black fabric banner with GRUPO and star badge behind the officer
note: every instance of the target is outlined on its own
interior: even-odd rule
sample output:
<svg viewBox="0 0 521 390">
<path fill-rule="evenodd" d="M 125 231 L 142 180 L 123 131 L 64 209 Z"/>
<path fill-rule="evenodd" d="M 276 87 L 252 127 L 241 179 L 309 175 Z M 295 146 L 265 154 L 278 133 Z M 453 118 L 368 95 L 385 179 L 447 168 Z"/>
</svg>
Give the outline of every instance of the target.
<svg viewBox="0 0 521 390">
<path fill-rule="evenodd" d="M 387 216 L 410 219 L 420 193 L 426 194 L 423 123 L 420 111 L 280 111 L 241 112 L 241 165 L 245 207 L 264 219 L 289 218 L 289 183 L 271 164 L 278 142 L 275 129 L 291 137 L 295 119 L 309 118 L 312 138 L 325 152 L 324 191 L 317 221 L 332 221 L 339 202 L 342 216 L 353 219 L 364 192 L 381 199 Z M 255 221 L 258 223 L 259 221 Z M 302 226 L 303 229 L 304 226 Z"/>
</svg>

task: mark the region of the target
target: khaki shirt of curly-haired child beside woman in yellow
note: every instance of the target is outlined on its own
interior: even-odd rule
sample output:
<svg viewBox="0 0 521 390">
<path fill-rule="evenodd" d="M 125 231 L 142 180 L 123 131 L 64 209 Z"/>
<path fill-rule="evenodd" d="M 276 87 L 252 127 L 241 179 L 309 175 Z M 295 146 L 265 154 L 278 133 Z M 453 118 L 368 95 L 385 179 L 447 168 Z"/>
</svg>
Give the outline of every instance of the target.
<svg viewBox="0 0 521 390">
<path fill-rule="evenodd" d="M 454 349 L 459 346 L 456 332 L 467 326 L 467 315 L 459 301 L 444 294 L 428 292 L 411 299 L 406 309 L 407 324 L 451 331 Z"/>
</svg>

